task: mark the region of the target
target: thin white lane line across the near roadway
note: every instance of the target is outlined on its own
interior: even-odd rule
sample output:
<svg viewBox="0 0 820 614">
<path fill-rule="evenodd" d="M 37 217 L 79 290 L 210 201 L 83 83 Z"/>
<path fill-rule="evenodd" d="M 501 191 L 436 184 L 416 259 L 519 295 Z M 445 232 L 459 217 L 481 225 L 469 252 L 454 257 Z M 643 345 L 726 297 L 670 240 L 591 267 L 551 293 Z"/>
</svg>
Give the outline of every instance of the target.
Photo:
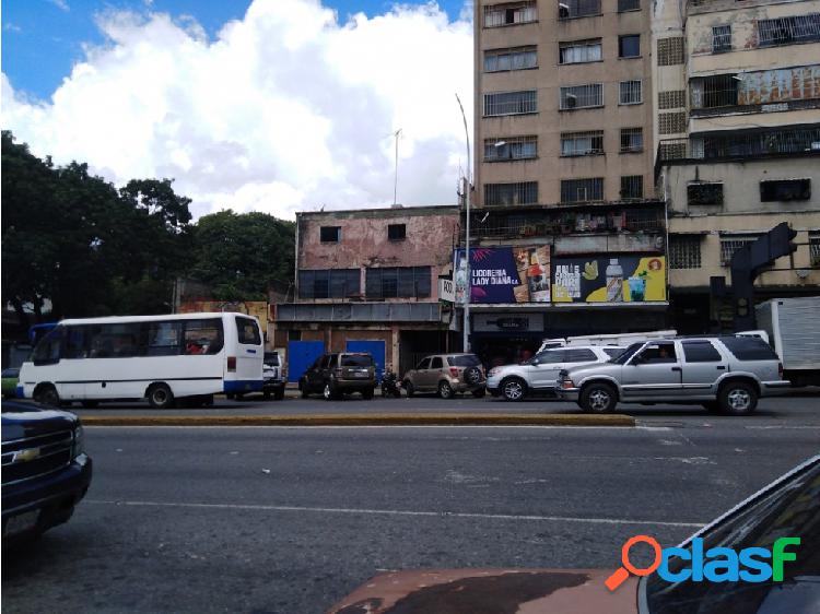
<svg viewBox="0 0 820 614">
<path fill-rule="evenodd" d="M 83 503 L 92 505 L 114 505 L 134 507 L 178 507 L 194 509 L 244 509 L 251 511 L 315 511 L 319 513 L 350 513 L 375 516 L 410 516 L 430 518 L 479 518 L 485 520 L 537 520 L 550 522 L 582 522 L 588 524 L 653 524 L 658 527 L 681 527 L 700 529 L 705 522 L 670 522 L 666 520 L 626 520 L 619 518 L 577 518 L 573 516 L 536 516 L 517 513 L 473 513 L 466 511 L 413 511 L 407 509 L 367 509 L 344 507 L 303 507 L 291 505 L 248 505 L 248 504 L 194 504 L 164 501 L 117 501 L 104 499 L 85 499 Z"/>
</svg>

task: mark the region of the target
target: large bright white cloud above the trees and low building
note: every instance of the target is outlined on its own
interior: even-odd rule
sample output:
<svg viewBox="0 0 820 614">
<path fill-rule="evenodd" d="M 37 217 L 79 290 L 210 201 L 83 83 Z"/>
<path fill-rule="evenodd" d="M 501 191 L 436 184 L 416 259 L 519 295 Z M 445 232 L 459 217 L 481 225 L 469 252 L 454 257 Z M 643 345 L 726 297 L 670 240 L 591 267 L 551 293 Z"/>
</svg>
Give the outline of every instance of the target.
<svg viewBox="0 0 820 614">
<path fill-rule="evenodd" d="M 2 79 L 3 128 L 124 184 L 172 177 L 195 215 L 455 202 L 471 114 L 471 24 L 434 3 L 340 23 L 318 0 L 256 0 L 209 40 L 190 16 L 112 12 L 108 43 L 48 103 Z M 472 118 L 468 117 L 472 126 Z"/>
</svg>

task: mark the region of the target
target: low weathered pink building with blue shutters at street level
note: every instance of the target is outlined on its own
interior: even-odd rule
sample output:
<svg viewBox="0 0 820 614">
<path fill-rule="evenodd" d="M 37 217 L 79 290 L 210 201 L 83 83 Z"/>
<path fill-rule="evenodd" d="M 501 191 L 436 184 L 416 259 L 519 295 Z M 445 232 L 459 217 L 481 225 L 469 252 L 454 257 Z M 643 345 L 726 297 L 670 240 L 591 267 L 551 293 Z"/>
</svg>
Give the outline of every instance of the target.
<svg viewBox="0 0 820 614">
<path fill-rule="evenodd" d="M 277 347 L 298 381 L 324 352 L 370 352 L 398 373 L 450 349 L 449 304 L 458 208 L 412 206 L 296 213 L 296 287 L 276 306 Z"/>
</svg>

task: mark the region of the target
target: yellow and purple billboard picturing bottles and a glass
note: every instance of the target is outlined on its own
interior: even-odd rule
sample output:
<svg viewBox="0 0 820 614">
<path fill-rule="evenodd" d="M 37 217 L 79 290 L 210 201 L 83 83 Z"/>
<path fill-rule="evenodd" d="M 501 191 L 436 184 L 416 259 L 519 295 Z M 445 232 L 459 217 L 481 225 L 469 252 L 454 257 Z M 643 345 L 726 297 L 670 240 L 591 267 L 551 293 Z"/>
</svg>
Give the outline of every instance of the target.
<svg viewBox="0 0 820 614">
<path fill-rule="evenodd" d="M 616 256 L 552 259 L 553 303 L 666 300 L 666 257 Z"/>
</svg>

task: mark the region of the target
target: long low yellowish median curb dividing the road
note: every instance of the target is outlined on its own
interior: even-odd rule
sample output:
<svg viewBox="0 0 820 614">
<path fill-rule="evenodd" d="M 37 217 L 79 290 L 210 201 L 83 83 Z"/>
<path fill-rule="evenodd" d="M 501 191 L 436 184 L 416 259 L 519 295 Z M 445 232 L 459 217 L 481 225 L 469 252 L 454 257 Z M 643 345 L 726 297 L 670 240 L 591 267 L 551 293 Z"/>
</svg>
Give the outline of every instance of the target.
<svg viewBox="0 0 820 614">
<path fill-rule="evenodd" d="M 83 416 L 85 426 L 635 426 L 624 414 L 302 414 Z"/>
</svg>

